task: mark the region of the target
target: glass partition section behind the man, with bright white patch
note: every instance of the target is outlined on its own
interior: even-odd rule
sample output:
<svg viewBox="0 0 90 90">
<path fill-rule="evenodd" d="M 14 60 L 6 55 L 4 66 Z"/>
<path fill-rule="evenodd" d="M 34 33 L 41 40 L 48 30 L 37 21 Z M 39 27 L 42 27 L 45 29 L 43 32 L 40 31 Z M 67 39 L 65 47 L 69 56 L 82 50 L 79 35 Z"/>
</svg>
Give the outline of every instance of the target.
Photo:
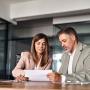
<svg viewBox="0 0 90 90">
<path fill-rule="evenodd" d="M 71 26 L 76 29 L 79 39 L 81 42 L 90 45 L 90 22 L 77 22 L 77 23 L 66 23 L 66 24 L 56 24 L 53 25 L 53 32 L 56 36 L 57 32 L 61 30 L 61 28 Z M 57 37 L 54 39 L 54 51 L 53 51 L 53 68 L 55 71 L 59 71 L 61 66 L 60 59 L 63 53 L 63 48 L 59 44 L 59 40 Z"/>
</svg>

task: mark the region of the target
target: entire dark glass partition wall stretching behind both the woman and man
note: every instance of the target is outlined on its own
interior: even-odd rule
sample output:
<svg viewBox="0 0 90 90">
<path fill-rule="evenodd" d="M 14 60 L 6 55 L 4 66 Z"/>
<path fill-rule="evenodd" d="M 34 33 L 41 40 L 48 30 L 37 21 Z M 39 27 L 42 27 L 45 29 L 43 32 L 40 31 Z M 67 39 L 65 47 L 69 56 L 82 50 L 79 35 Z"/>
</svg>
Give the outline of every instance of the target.
<svg viewBox="0 0 90 90">
<path fill-rule="evenodd" d="M 0 19 L 0 79 L 12 79 L 12 70 L 20 58 L 20 53 L 30 50 L 32 38 L 37 33 L 48 36 L 50 55 L 53 58 L 52 69 L 59 71 L 63 48 L 57 32 L 64 26 L 74 27 L 80 41 L 90 45 L 90 22 L 52 25 L 52 19 L 44 19 L 12 25 Z"/>
</svg>

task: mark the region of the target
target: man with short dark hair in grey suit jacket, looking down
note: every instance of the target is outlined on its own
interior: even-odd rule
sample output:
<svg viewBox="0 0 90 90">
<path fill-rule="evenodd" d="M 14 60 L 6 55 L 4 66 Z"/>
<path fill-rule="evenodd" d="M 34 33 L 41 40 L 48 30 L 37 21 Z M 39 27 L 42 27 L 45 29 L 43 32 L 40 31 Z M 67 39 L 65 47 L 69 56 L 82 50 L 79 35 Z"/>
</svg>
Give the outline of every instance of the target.
<svg viewBox="0 0 90 90">
<path fill-rule="evenodd" d="M 59 73 L 48 74 L 50 81 L 90 81 L 90 47 L 79 41 L 72 27 L 63 28 L 58 37 L 65 52 Z"/>
</svg>

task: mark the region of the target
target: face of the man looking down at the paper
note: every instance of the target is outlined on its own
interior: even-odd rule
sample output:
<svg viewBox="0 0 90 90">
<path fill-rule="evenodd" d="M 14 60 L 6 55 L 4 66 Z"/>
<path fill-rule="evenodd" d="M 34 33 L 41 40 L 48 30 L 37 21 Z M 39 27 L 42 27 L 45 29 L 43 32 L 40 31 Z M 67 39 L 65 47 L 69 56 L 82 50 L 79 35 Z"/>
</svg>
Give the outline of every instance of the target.
<svg viewBox="0 0 90 90">
<path fill-rule="evenodd" d="M 59 36 L 59 41 L 66 52 L 73 52 L 76 42 L 74 35 L 68 35 L 63 33 Z"/>
</svg>

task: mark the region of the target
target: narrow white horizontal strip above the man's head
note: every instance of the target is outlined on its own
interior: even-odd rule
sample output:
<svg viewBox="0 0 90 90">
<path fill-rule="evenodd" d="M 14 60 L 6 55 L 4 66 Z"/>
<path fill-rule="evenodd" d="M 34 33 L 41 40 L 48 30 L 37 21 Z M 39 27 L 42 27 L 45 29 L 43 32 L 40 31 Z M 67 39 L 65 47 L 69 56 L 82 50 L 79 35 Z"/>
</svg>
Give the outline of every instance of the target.
<svg viewBox="0 0 90 90">
<path fill-rule="evenodd" d="M 90 14 L 53 18 L 53 24 L 64 24 L 74 22 L 90 22 Z"/>
</svg>

